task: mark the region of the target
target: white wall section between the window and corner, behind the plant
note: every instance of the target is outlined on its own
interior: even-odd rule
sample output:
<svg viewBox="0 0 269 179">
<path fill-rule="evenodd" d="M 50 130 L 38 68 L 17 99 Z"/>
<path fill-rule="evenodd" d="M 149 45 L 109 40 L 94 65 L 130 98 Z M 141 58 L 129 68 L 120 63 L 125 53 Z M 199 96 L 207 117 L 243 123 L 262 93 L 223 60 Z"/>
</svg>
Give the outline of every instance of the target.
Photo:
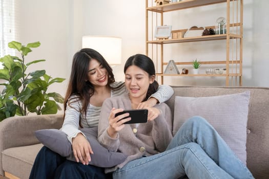
<svg viewBox="0 0 269 179">
<path fill-rule="evenodd" d="M 19 38 L 24 45 L 40 41 L 40 47 L 32 49 L 26 62 L 46 59 L 45 62 L 32 64 L 28 72 L 46 70 L 52 78 L 67 78 L 70 59 L 70 4 L 66 0 L 59 1 L 17 1 L 19 19 Z M 54 83 L 49 91 L 65 94 L 67 80 Z"/>
</svg>

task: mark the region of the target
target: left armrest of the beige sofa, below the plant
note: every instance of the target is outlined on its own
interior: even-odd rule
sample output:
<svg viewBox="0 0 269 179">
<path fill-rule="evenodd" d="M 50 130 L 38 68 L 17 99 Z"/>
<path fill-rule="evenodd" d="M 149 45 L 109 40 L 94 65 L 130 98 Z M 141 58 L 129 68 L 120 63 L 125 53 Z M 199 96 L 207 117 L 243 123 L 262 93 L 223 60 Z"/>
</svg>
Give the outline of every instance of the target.
<svg viewBox="0 0 269 179">
<path fill-rule="evenodd" d="M 63 124 L 63 115 L 15 116 L 0 122 L 0 175 L 3 174 L 2 151 L 19 146 L 38 144 L 34 131 L 57 128 Z"/>
</svg>

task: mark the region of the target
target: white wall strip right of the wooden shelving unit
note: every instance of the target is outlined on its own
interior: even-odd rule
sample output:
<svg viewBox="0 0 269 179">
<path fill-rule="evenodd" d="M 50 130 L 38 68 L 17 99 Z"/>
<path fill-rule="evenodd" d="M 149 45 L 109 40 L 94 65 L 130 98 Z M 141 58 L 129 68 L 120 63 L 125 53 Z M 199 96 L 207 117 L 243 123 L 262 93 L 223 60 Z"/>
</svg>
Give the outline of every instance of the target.
<svg viewBox="0 0 269 179">
<path fill-rule="evenodd" d="M 269 86 L 269 1 L 244 1 L 245 85 Z"/>
</svg>

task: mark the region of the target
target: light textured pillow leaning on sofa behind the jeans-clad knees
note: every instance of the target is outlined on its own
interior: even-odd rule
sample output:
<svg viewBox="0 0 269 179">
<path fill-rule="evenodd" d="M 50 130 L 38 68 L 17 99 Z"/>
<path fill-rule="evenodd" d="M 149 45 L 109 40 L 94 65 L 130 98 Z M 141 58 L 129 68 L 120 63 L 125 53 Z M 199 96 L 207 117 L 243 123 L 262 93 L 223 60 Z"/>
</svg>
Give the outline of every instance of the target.
<svg viewBox="0 0 269 179">
<path fill-rule="evenodd" d="M 173 135 L 193 116 L 206 119 L 246 164 L 246 125 L 250 91 L 212 97 L 175 97 Z"/>
</svg>

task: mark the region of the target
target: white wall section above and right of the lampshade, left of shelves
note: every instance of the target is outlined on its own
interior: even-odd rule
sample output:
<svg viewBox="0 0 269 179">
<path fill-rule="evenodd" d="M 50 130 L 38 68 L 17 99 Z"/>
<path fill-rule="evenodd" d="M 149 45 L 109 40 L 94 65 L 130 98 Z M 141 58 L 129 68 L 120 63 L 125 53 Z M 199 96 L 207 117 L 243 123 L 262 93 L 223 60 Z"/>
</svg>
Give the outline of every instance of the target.
<svg viewBox="0 0 269 179">
<path fill-rule="evenodd" d="M 84 1 L 82 35 L 122 38 L 122 65 L 114 66 L 116 80 L 124 80 L 123 66 L 131 55 L 144 53 L 145 3 L 143 1 Z"/>
</svg>

